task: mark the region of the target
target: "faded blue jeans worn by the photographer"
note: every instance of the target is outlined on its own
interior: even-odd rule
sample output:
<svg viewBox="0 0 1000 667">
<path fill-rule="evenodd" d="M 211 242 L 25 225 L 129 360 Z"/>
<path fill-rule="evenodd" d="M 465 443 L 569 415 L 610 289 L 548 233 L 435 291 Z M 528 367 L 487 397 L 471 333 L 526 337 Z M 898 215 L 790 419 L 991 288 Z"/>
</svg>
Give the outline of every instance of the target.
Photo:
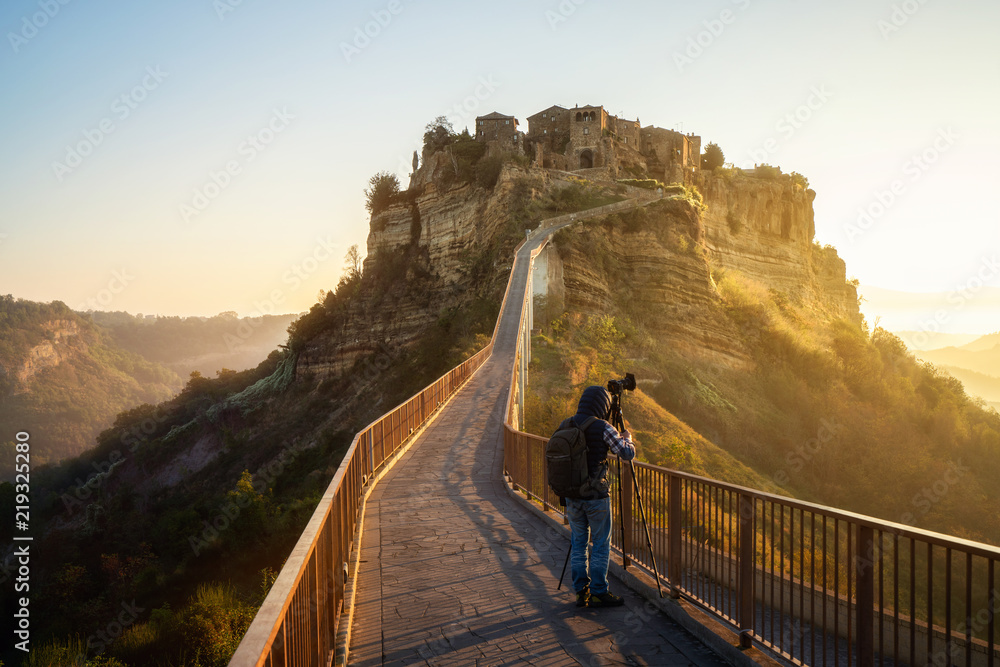
<svg viewBox="0 0 1000 667">
<path fill-rule="evenodd" d="M 566 499 L 569 518 L 570 572 L 573 590 L 577 593 L 590 586 L 592 595 L 608 592 L 608 559 L 611 557 L 611 499 Z M 587 568 L 587 542 L 590 547 L 590 568 Z"/>
</svg>

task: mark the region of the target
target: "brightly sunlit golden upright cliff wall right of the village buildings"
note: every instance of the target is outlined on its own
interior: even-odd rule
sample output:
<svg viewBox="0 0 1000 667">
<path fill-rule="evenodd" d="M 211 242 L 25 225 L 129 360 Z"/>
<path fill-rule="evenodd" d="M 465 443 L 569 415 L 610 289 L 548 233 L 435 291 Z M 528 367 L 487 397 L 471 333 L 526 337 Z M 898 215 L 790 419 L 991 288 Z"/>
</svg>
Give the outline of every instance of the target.
<svg viewBox="0 0 1000 667">
<path fill-rule="evenodd" d="M 785 180 L 709 172 L 699 172 L 695 181 L 708 205 L 702 226 L 713 268 L 739 271 L 841 317 L 860 317 L 843 260 L 813 244 L 815 192 Z"/>
</svg>

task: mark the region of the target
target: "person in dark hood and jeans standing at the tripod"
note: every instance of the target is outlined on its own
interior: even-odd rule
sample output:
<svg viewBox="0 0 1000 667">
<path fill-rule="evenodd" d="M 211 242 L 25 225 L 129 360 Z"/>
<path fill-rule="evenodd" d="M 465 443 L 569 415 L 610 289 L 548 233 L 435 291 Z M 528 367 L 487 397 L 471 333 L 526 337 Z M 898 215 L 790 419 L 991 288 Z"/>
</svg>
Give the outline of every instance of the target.
<svg viewBox="0 0 1000 667">
<path fill-rule="evenodd" d="M 611 500 L 608 494 L 608 452 L 630 461 L 635 447 L 628 430 L 619 433 L 608 423 L 611 394 L 604 387 L 587 387 L 580 397 L 576 415 L 563 422 L 582 427 L 587 440 L 587 472 L 590 490 L 583 498 L 566 498 L 566 516 L 571 532 L 571 575 L 578 607 L 619 607 L 625 601 L 608 590 L 608 561 L 611 555 Z M 589 568 L 587 542 L 590 548 Z M 589 570 L 589 571 L 588 571 Z"/>
</svg>

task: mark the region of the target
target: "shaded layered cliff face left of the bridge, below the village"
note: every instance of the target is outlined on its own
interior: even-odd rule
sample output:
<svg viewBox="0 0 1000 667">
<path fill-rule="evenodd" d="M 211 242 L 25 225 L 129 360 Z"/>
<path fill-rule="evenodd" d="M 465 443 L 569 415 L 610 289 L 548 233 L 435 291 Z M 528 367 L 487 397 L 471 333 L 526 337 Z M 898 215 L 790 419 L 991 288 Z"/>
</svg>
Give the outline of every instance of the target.
<svg viewBox="0 0 1000 667">
<path fill-rule="evenodd" d="M 441 190 L 439 169 L 439 160 L 429 160 L 402 201 L 372 217 L 360 298 L 338 330 L 300 353 L 299 371 L 337 375 L 359 359 L 392 358 L 475 299 L 484 277 L 509 272 L 512 258 L 489 249 L 508 231 L 513 192 L 525 172 L 505 168 L 492 191 Z"/>
</svg>

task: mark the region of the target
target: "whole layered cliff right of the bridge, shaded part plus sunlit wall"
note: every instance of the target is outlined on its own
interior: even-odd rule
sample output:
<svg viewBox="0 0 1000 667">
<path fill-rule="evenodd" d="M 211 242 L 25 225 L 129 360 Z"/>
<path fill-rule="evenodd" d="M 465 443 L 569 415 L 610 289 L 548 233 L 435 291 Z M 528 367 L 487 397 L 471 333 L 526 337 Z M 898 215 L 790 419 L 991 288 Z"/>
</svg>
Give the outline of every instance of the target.
<svg viewBox="0 0 1000 667">
<path fill-rule="evenodd" d="M 715 282 L 728 271 L 820 319 L 860 317 L 843 260 L 813 244 L 815 193 L 761 179 L 701 181 L 707 210 L 668 199 L 639 218 L 570 229 L 540 258 L 547 295 L 571 313 L 623 312 L 663 349 L 730 368 L 748 368 L 750 355 Z"/>
</svg>

